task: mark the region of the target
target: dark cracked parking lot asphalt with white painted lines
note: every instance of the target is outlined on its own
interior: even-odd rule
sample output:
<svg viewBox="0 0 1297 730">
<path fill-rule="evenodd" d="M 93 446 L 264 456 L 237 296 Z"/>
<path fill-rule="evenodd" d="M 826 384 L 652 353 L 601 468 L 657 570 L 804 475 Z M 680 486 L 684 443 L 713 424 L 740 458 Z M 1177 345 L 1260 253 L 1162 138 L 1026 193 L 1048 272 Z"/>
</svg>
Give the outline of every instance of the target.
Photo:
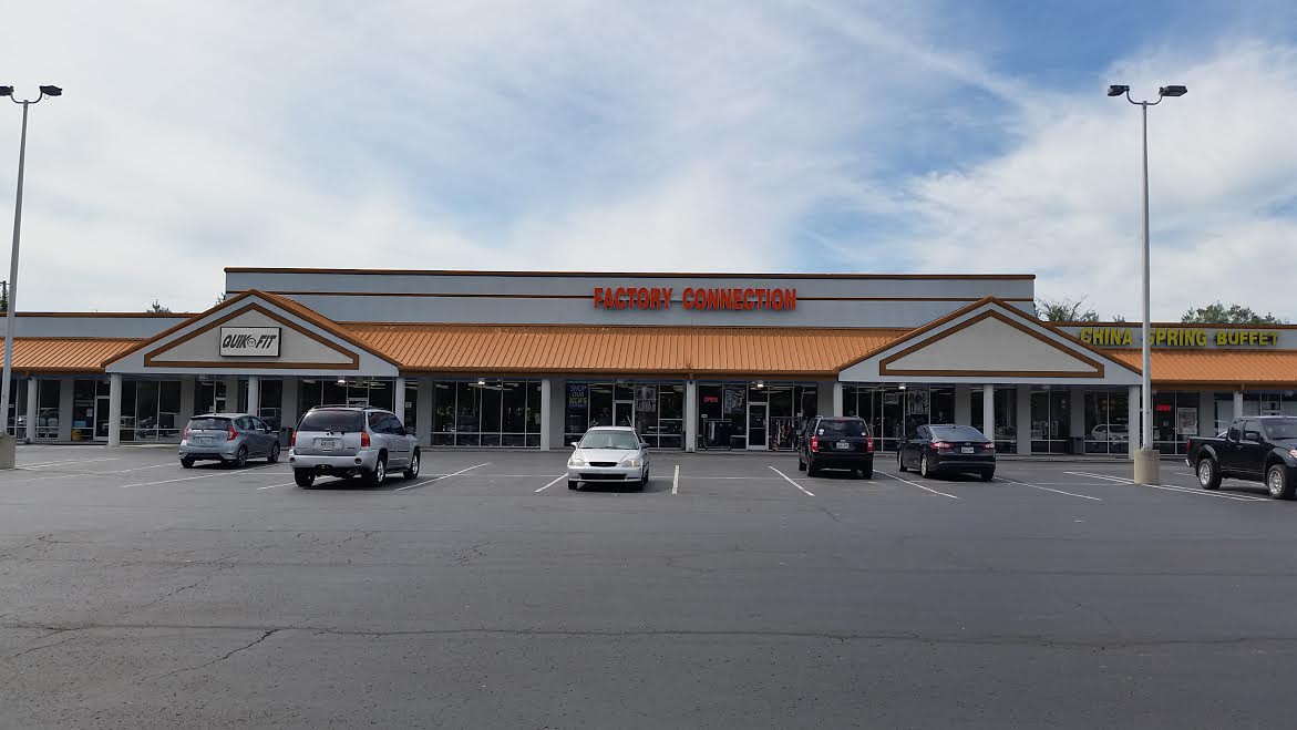
<svg viewBox="0 0 1297 730">
<path fill-rule="evenodd" d="M 292 485 L 173 449 L 0 473 L 0 726 L 1288 726 L 1297 503 L 1113 463 L 431 453 Z"/>
</svg>

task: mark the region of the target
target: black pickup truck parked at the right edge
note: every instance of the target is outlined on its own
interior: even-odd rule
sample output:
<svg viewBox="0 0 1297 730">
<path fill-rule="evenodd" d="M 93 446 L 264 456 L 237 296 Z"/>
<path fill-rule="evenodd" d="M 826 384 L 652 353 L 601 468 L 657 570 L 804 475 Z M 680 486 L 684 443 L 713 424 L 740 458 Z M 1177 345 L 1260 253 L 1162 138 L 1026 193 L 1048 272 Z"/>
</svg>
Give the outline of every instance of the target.
<svg viewBox="0 0 1297 730">
<path fill-rule="evenodd" d="M 1202 489 L 1219 489 L 1224 477 L 1259 481 L 1275 499 L 1297 494 L 1297 418 L 1250 416 L 1223 436 L 1189 438 L 1188 458 Z"/>
</svg>

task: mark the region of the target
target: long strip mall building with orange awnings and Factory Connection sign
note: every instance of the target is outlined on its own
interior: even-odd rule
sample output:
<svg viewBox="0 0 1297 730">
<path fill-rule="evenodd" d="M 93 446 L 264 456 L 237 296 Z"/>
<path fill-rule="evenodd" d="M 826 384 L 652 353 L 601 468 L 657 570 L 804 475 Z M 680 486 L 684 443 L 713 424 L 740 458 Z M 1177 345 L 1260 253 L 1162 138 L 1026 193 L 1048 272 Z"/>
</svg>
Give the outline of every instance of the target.
<svg viewBox="0 0 1297 730">
<path fill-rule="evenodd" d="M 167 442 L 248 411 L 287 437 L 311 406 L 368 403 L 431 447 L 634 424 L 658 449 L 789 449 L 817 414 L 888 450 L 921 423 L 1017 454 L 1127 454 L 1140 433 L 1139 328 L 1043 323 L 1030 275 L 227 268 L 226 287 L 201 314 L 19 312 L 8 428 Z M 1163 454 L 1297 415 L 1297 328 L 1158 324 L 1153 347 Z"/>
</svg>

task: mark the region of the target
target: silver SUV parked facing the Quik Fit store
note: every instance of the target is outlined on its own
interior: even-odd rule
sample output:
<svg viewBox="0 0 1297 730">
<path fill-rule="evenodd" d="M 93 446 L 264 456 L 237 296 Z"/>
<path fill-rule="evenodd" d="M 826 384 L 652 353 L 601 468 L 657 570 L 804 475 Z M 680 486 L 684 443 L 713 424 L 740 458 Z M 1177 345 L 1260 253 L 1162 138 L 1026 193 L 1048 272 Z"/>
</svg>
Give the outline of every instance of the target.
<svg viewBox="0 0 1297 730">
<path fill-rule="evenodd" d="M 288 464 L 297 486 L 310 488 L 318 476 L 363 476 L 371 486 L 389 471 L 419 476 L 419 440 L 414 429 L 381 408 L 320 406 L 306 411 L 293 432 Z"/>
</svg>

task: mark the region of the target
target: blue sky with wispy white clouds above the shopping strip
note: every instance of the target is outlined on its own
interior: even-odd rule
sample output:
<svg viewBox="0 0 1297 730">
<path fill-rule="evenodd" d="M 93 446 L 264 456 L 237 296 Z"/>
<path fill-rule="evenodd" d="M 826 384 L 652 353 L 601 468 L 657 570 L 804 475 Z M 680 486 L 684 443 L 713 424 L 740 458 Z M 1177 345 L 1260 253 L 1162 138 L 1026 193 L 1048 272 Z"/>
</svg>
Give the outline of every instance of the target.
<svg viewBox="0 0 1297 730">
<path fill-rule="evenodd" d="M 32 109 L 19 309 L 204 309 L 236 265 L 578 267 L 1032 272 L 1135 319 L 1121 82 L 1191 88 L 1150 113 L 1154 316 L 1220 298 L 1297 320 L 1275 266 L 1297 239 L 1291 3 L 10 16 L 0 82 L 67 89 Z"/>
</svg>

